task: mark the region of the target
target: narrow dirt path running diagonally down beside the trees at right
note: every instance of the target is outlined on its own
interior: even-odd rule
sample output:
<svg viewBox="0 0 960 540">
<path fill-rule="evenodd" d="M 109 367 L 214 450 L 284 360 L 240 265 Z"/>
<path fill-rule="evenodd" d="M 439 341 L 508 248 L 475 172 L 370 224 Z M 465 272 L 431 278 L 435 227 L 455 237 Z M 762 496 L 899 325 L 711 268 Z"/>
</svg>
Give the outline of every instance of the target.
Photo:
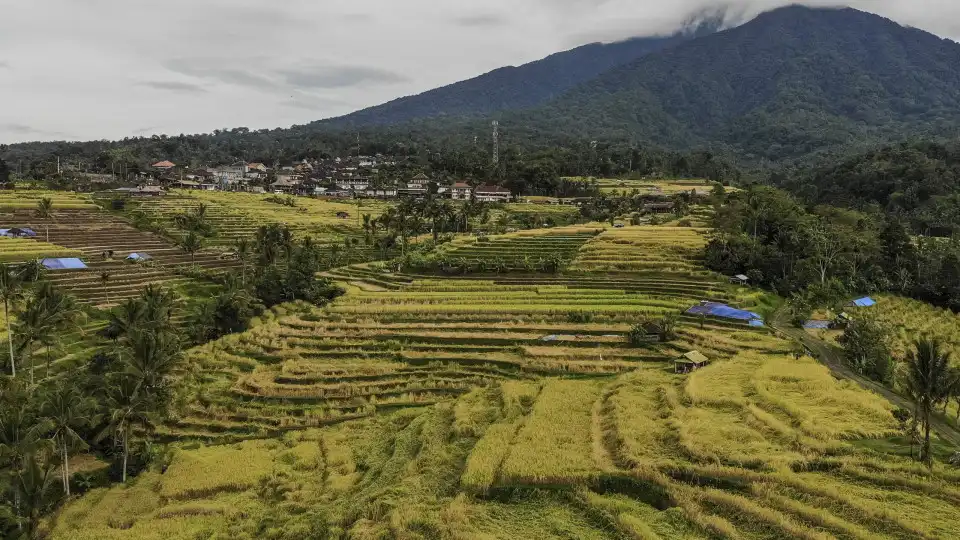
<svg viewBox="0 0 960 540">
<path fill-rule="evenodd" d="M 794 341 L 802 343 L 804 347 L 813 351 L 820 363 L 830 368 L 834 376 L 854 381 L 867 390 L 872 390 L 883 396 L 887 401 L 897 407 L 913 410 L 913 402 L 909 399 L 850 369 L 847 363 L 844 362 L 843 351 L 839 347 L 817 339 L 802 328 L 794 328 L 790 325 L 786 320 L 786 312 L 783 310 L 775 313 L 773 320 L 769 322 L 774 330 L 777 330 Z M 954 446 L 960 447 L 960 429 L 948 420 L 946 416 L 941 413 L 934 413 L 930 418 L 930 426 L 937 432 L 941 439 Z"/>
</svg>

